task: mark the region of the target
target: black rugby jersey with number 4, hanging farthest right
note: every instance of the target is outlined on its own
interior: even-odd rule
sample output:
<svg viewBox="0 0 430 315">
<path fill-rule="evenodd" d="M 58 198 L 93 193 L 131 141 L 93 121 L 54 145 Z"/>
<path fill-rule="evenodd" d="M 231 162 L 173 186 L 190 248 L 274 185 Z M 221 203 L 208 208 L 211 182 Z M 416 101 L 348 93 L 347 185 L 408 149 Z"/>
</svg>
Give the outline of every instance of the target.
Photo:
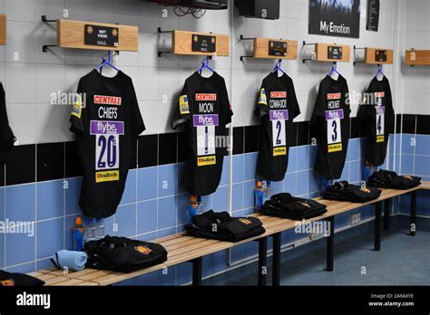
<svg viewBox="0 0 430 315">
<path fill-rule="evenodd" d="M 366 98 L 358 110 L 363 121 L 363 134 L 367 136 L 365 158 L 374 167 L 386 160 L 386 147 L 390 133 L 394 132 L 395 113 L 391 97 L 390 83 L 386 76 L 370 82 Z"/>
</svg>

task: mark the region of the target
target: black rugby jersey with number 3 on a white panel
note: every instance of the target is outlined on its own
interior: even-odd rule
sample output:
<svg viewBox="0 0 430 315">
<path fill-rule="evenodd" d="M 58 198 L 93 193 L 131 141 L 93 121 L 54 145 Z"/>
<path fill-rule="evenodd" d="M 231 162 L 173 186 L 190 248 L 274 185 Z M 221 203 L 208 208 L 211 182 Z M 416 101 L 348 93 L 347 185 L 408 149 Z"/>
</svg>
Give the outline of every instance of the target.
<svg viewBox="0 0 430 315">
<path fill-rule="evenodd" d="M 318 154 L 315 170 L 323 177 L 341 177 L 349 140 L 349 108 L 347 80 L 326 76 L 319 84 L 317 103 L 311 124 L 317 124 Z"/>
</svg>

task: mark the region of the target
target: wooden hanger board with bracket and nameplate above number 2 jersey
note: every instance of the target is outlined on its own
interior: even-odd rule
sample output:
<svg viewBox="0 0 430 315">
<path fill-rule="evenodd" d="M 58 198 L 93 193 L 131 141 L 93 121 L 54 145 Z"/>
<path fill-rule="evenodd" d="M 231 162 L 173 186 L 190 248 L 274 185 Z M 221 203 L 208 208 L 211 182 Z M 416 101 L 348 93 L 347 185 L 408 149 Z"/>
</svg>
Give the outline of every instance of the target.
<svg viewBox="0 0 430 315">
<path fill-rule="evenodd" d="M 240 56 L 241 62 L 244 58 L 285 60 L 298 58 L 298 43 L 296 41 L 264 37 L 247 38 L 243 35 L 240 35 L 240 41 L 253 41 L 252 56 Z"/>
</svg>

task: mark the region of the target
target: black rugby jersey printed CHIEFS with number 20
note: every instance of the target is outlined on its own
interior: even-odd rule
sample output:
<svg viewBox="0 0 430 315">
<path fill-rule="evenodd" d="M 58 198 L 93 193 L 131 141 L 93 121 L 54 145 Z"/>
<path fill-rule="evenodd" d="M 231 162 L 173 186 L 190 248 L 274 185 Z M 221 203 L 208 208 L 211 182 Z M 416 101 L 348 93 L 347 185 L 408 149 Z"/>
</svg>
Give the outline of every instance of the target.
<svg viewBox="0 0 430 315">
<path fill-rule="evenodd" d="M 111 216 L 135 160 L 137 137 L 145 129 L 132 79 L 123 72 L 112 78 L 95 70 L 85 75 L 70 121 L 83 167 L 79 205 L 89 217 Z"/>
</svg>

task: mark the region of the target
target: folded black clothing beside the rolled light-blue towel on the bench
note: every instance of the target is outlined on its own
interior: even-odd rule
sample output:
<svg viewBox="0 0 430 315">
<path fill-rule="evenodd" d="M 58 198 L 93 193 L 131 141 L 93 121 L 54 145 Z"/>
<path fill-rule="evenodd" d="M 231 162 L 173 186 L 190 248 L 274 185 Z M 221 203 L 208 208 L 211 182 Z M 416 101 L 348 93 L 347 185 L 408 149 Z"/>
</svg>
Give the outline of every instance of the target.
<svg viewBox="0 0 430 315">
<path fill-rule="evenodd" d="M 158 243 L 106 235 L 102 240 L 85 243 L 86 268 L 134 272 L 167 260 L 167 252 Z"/>
</svg>

